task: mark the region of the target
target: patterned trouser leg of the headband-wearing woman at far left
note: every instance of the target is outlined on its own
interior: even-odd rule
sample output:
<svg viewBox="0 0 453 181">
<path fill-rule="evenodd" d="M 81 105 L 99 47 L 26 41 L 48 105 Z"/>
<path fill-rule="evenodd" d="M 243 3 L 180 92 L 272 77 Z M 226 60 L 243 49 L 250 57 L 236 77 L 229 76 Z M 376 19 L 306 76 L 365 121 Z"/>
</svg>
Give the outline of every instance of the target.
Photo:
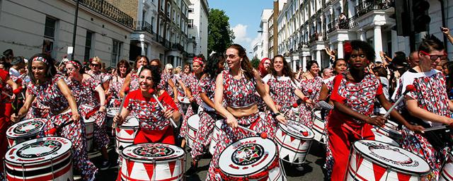
<svg viewBox="0 0 453 181">
<path fill-rule="evenodd" d="M 71 119 L 71 112 L 57 115 L 54 119 L 60 119 L 64 120 L 63 122 L 67 122 Z M 72 142 L 72 165 L 74 165 L 74 168 L 79 170 L 83 180 L 90 180 L 98 172 L 98 168 L 91 163 L 88 159 L 88 153 L 86 153 L 84 122 L 79 120 L 77 124 L 73 122 L 67 127 L 63 127 L 61 136 L 71 140 Z"/>
</svg>

